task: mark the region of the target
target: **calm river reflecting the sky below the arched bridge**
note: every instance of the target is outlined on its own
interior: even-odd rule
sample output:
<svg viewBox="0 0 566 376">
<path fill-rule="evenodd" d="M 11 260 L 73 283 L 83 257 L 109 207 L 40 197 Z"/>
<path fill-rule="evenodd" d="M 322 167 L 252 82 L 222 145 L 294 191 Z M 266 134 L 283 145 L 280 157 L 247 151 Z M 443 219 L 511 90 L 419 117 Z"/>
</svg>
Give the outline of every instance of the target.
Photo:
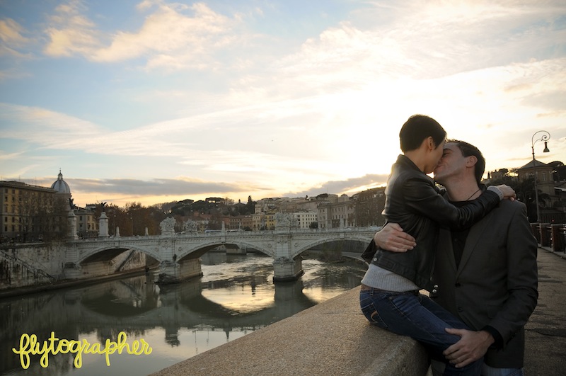
<svg viewBox="0 0 566 376">
<path fill-rule="evenodd" d="M 148 274 L 0 300 L 0 375 L 148 375 L 340 295 L 359 285 L 366 269 L 353 259 L 305 258 L 299 280 L 274 284 L 272 262 L 209 252 L 202 278 L 179 285 L 158 287 Z M 62 347 L 69 353 L 48 353 L 46 367 L 40 355 L 27 364 L 12 350 L 28 349 L 33 334 L 42 349 L 52 332 L 55 348 L 62 339 L 78 342 Z M 109 353 L 107 365 L 103 350 L 120 341 L 127 347 Z M 76 357 L 78 343 L 100 351 Z"/>
</svg>

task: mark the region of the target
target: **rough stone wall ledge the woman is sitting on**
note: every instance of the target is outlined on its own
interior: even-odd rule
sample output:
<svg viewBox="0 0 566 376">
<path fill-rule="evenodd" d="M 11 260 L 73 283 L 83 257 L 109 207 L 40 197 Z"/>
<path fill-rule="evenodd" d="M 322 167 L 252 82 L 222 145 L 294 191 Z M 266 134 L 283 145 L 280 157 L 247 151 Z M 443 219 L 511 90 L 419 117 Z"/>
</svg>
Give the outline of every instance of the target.
<svg viewBox="0 0 566 376">
<path fill-rule="evenodd" d="M 371 326 L 359 287 L 154 373 L 171 375 L 427 375 L 424 348 Z"/>
</svg>

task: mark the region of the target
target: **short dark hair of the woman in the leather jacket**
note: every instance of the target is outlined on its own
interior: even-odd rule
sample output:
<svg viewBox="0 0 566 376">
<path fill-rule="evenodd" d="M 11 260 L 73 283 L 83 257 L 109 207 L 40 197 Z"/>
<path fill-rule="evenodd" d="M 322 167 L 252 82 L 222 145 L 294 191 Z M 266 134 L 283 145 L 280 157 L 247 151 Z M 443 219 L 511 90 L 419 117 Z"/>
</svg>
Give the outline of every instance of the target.
<svg viewBox="0 0 566 376">
<path fill-rule="evenodd" d="M 412 115 L 399 132 L 401 150 L 404 153 L 418 149 L 427 137 L 432 137 L 436 147 L 439 147 L 446 139 L 446 131 L 433 118 L 425 115 Z"/>
</svg>

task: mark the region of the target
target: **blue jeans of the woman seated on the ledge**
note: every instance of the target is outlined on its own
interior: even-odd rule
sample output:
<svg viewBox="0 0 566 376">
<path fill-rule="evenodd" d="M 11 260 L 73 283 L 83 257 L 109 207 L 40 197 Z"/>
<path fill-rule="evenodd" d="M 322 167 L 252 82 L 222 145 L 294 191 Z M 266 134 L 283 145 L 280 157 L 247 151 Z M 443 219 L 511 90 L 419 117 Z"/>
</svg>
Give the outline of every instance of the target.
<svg viewBox="0 0 566 376">
<path fill-rule="evenodd" d="M 480 375 L 483 358 L 456 368 L 442 351 L 460 340 L 444 329 L 468 329 L 453 314 L 419 292 L 390 292 L 379 289 L 360 290 L 359 304 L 371 324 L 422 343 L 431 358 L 446 363 L 444 375 Z"/>
</svg>

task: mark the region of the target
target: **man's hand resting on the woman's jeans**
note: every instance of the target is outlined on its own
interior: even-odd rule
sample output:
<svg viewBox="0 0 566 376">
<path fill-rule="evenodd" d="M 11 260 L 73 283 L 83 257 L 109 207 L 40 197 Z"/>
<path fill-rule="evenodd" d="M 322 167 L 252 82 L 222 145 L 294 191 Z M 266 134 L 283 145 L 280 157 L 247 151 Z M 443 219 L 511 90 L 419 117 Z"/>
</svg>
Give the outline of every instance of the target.
<svg viewBox="0 0 566 376">
<path fill-rule="evenodd" d="M 446 348 L 443 353 L 450 363 L 456 365 L 456 368 L 461 368 L 480 359 L 487 352 L 487 348 L 495 342 L 495 339 L 487 331 L 446 328 L 446 332 L 461 336 L 460 341 Z"/>
</svg>

